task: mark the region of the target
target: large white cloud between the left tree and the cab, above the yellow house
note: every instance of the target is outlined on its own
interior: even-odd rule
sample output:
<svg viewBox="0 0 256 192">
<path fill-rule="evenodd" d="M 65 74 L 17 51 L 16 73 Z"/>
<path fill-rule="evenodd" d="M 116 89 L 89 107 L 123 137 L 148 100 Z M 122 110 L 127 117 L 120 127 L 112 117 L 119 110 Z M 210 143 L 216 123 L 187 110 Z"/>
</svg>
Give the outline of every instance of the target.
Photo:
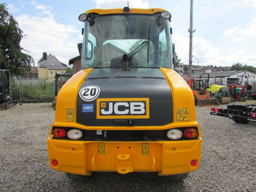
<svg viewBox="0 0 256 192">
<path fill-rule="evenodd" d="M 25 36 L 21 47 L 28 50 L 35 64 L 41 59 L 43 52 L 54 55 L 62 63 L 78 55 L 77 43 L 81 41 L 74 26 L 57 23 L 52 18 L 29 17 L 22 14 L 17 17 Z M 73 34 L 75 34 L 73 37 Z"/>
</svg>

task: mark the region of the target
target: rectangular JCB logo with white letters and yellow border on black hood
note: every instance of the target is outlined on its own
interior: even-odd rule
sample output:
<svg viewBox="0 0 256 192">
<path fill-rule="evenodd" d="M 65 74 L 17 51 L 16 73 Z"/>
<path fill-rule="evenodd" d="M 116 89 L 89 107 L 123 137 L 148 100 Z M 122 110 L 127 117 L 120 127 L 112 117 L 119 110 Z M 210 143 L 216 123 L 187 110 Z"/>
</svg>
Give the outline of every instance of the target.
<svg viewBox="0 0 256 192">
<path fill-rule="evenodd" d="M 149 119 L 149 98 L 97 99 L 97 119 Z"/>
</svg>

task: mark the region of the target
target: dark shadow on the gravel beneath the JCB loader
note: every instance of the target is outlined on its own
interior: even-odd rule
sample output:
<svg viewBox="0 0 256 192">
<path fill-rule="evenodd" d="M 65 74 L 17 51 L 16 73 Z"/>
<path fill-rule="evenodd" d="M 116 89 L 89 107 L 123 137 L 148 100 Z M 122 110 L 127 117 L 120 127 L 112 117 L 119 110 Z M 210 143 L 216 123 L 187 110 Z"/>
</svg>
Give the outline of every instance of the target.
<svg viewBox="0 0 256 192">
<path fill-rule="evenodd" d="M 184 181 L 169 181 L 157 173 L 94 172 L 88 180 L 74 181 L 68 179 L 74 191 L 184 191 Z M 82 191 L 82 190 L 81 190 Z"/>
</svg>

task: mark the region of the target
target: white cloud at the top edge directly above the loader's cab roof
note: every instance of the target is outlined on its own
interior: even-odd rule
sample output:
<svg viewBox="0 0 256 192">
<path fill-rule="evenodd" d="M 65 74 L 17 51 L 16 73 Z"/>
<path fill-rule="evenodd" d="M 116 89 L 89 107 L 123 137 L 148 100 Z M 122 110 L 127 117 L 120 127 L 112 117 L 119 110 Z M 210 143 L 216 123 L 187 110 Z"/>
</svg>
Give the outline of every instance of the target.
<svg viewBox="0 0 256 192">
<path fill-rule="evenodd" d="M 127 6 L 128 0 L 93 0 L 97 5 L 97 9 L 115 9 Z M 148 9 L 149 4 L 147 1 L 142 0 L 129 0 L 130 8 Z"/>
</svg>

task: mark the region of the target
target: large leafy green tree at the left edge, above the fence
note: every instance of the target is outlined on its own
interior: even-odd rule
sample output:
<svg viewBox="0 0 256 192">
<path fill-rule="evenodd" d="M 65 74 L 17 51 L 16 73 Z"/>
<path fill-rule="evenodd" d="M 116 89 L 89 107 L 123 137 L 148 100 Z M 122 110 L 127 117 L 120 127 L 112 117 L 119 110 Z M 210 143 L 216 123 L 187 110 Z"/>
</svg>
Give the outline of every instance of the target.
<svg viewBox="0 0 256 192">
<path fill-rule="evenodd" d="M 33 58 L 23 53 L 21 39 L 26 36 L 18 22 L 9 14 L 7 4 L 0 4 L 0 68 L 10 70 L 12 76 L 24 75 L 34 64 Z"/>
</svg>

